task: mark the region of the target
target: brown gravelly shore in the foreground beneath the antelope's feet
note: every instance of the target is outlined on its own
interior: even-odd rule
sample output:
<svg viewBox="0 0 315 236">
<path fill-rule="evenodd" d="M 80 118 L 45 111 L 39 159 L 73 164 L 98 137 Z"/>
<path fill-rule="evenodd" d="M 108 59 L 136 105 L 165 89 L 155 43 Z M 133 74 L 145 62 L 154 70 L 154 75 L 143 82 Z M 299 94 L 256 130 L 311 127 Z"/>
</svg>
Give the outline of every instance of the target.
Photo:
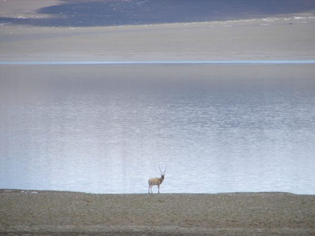
<svg viewBox="0 0 315 236">
<path fill-rule="evenodd" d="M 0 235 L 315 235 L 315 195 L 0 189 Z"/>
</svg>

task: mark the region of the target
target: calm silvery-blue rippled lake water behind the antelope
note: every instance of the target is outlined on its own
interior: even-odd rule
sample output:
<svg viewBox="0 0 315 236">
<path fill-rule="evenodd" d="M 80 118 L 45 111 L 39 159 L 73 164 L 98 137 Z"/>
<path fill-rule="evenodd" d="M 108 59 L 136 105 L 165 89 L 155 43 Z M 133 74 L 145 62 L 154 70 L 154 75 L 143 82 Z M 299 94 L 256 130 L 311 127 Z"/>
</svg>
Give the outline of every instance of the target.
<svg viewBox="0 0 315 236">
<path fill-rule="evenodd" d="M 315 194 L 314 72 L 3 65 L 0 188 Z"/>
</svg>

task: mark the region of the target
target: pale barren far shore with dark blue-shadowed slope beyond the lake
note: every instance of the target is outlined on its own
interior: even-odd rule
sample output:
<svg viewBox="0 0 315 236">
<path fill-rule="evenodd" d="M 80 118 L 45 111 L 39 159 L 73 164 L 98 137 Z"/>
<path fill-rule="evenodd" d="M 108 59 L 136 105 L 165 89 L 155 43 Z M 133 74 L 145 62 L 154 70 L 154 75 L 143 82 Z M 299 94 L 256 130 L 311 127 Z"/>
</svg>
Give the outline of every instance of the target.
<svg viewBox="0 0 315 236">
<path fill-rule="evenodd" d="M 314 59 L 314 1 L 268 4 L 1 1 L 0 61 Z"/>
</svg>

